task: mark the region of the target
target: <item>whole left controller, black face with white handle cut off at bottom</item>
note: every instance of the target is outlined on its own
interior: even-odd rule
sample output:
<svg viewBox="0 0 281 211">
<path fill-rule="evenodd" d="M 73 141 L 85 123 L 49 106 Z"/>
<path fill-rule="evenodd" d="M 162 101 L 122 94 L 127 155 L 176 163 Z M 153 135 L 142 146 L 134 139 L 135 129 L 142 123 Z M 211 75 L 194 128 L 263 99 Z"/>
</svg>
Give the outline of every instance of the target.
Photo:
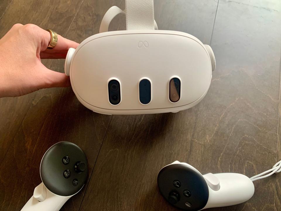
<svg viewBox="0 0 281 211">
<path fill-rule="evenodd" d="M 44 154 L 40 165 L 42 183 L 21 211 L 59 211 L 78 193 L 88 176 L 84 152 L 71 142 L 59 142 Z"/>
</svg>

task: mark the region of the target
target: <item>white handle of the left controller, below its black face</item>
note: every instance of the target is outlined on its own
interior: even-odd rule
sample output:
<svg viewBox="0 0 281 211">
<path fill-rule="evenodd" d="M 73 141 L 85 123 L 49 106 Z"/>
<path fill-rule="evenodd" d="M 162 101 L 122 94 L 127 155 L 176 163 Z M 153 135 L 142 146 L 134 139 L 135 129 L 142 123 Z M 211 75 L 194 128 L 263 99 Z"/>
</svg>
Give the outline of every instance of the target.
<svg viewBox="0 0 281 211">
<path fill-rule="evenodd" d="M 33 196 L 28 200 L 21 211 L 59 211 L 71 196 L 56 195 L 41 183 L 34 189 Z"/>
</svg>

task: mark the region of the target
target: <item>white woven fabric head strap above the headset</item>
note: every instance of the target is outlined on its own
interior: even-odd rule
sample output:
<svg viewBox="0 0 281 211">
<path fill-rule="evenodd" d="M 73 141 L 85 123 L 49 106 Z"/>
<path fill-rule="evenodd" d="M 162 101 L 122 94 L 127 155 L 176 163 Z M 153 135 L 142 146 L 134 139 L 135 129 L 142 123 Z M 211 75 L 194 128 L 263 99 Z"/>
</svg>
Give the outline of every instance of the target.
<svg viewBox="0 0 281 211">
<path fill-rule="evenodd" d="M 126 0 L 126 9 L 123 11 L 112 6 L 105 13 L 100 24 L 100 33 L 107 32 L 110 22 L 119 14 L 126 15 L 127 30 L 157 30 L 154 20 L 153 0 Z"/>
</svg>

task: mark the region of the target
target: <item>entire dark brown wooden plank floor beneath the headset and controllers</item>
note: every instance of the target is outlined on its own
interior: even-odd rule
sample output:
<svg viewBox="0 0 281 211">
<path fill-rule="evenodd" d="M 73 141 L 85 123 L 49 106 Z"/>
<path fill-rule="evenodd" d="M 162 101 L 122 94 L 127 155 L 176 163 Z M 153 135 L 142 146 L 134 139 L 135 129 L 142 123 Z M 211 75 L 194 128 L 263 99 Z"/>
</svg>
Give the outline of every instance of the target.
<svg viewBox="0 0 281 211">
<path fill-rule="evenodd" d="M 34 23 L 81 42 L 113 5 L 125 0 L 1 0 L 0 37 Z M 179 113 L 109 116 L 85 108 L 71 88 L 0 99 L 1 211 L 23 207 L 40 183 L 44 152 L 60 141 L 78 144 L 90 168 L 83 191 L 61 209 L 68 211 L 177 210 L 156 181 L 175 160 L 250 177 L 281 159 L 281 1 L 155 0 L 155 20 L 212 46 L 217 69 L 203 101 Z M 124 30 L 124 21 L 118 16 L 110 30 Z M 64 71 L 63 59 L 44 64 Z M 281 210 L 281 173 L 254 184 L 246 203 L 212 210 Z"/>
</svg>

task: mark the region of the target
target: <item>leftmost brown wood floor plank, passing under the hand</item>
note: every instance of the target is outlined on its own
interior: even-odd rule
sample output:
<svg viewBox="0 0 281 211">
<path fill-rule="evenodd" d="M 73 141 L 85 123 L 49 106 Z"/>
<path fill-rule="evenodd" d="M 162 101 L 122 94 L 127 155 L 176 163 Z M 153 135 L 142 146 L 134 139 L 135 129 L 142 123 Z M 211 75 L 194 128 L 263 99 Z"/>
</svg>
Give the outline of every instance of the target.
<svg viewBox="0 0 281 211">
<path fill-rule="evenodd" d="M 81 1 L 58 4 L 54 0 L 41 2 L 26 0 L 24 3 L 14 0 L 1 18 L 0 37 L 3 37 L 15 23 L 34 23 L 41 28 L 52 28 L 64 35 Z M 55 6 L 50 7 L 50 5 Z M 34 8 L 39 8 L 39 10 L 34 10 Z M 29 12 L 26 13 L 26 11 Z M 54 19 L 54 17 L 57 18 Z M 43 63 L 49 68 L 52 60 L 45 60 Z M 60 71 L 63 71 L 63 68 Z M 18 98 L 0 98 L 0 161 L 3 160 L 35 95 L 36 93 L 31 93 Z"/>
</svg>

